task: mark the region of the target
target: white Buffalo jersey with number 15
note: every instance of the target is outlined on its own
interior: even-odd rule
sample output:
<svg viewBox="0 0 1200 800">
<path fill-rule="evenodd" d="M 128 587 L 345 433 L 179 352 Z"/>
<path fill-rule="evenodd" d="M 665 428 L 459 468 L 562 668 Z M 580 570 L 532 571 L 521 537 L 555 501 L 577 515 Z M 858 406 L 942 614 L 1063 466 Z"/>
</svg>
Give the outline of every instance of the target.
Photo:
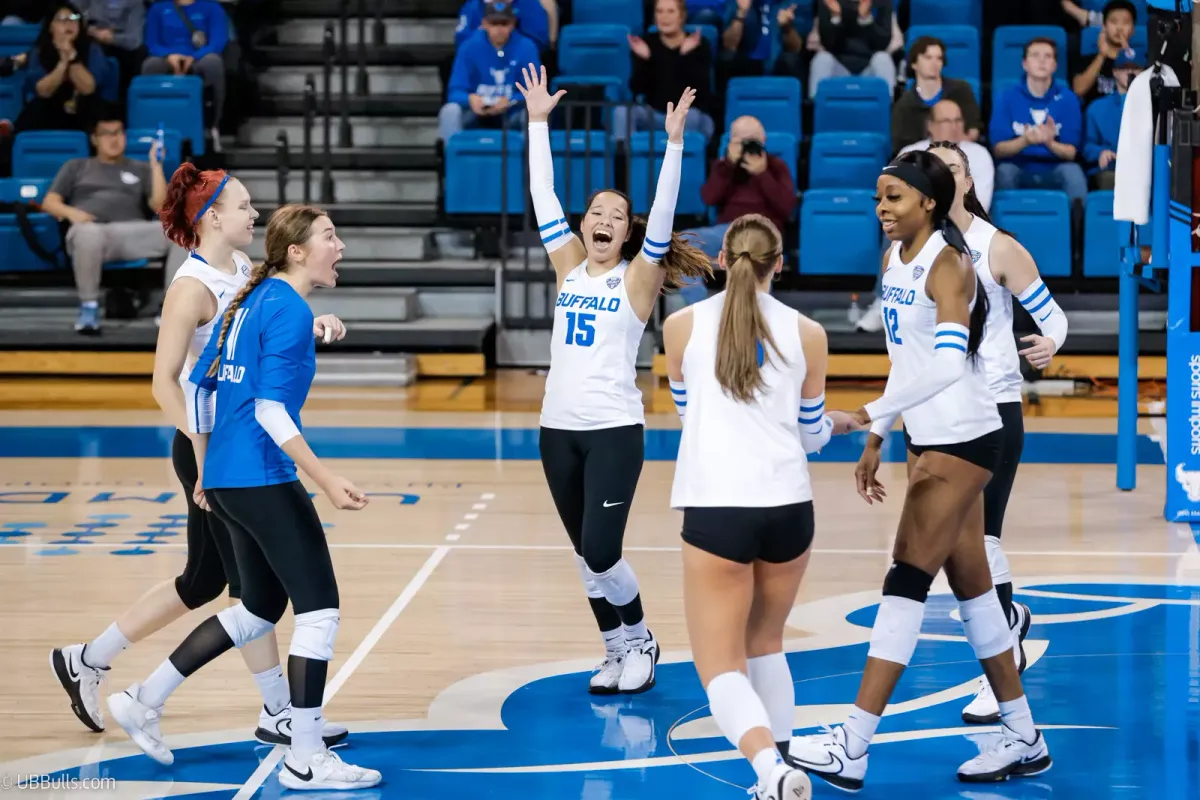
<svg viewBox="0 0 1200 800">
<path fill-rule="evenodd" d="M 622 261 L 592 277 L 583 261 L 563 279 L 554 301 L 544 427 L 595 431 L 646 422 L 637 387 L 637 348 L 646 323 L 625 291 L 628 267 Z"/>
</svg>

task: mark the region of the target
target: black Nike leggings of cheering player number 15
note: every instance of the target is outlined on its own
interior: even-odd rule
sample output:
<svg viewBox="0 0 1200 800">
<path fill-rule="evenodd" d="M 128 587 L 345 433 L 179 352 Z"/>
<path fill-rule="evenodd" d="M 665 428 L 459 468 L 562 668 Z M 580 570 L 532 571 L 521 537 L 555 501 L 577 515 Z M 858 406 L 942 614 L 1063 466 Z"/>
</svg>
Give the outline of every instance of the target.
<svg viewBox="0 0 1200 800">
<path fill-rule="evenodd" d="M 595 573 L 620 560 L 629 506 L 642 474 L 644 426 L 541 428 L 538 449 L 554 507 L 575 552 Z"/>
</svg>

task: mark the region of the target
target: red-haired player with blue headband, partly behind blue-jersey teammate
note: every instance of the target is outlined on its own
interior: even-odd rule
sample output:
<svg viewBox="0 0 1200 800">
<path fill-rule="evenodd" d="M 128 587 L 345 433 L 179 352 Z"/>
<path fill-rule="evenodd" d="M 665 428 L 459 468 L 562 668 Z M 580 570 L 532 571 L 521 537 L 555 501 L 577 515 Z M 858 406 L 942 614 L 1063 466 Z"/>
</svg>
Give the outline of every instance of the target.
<svg viewBox="0 0 1200 800">
<path fill-rule="evenodd" d="M 216 600 L 227 583 L 230 601 L 236 602 L 241 595 L 229 533 L 193 499 L 197 465 L 204 461 L 205 434 L 212 427 L 212 408 L 211 402 L 198 402 L 200 393 L 187 374 L 218 317 L 250 278 L 250 259 L 240 248 L 253 240 L 258 212 L 238 179 L 223 170 L 199 172 L 194 164 L 184 163 L 170 179 L 160 218 L 167 237 L 191 251 L 163 301 L 152 379 L 155 399 L 175 426 L 170 455 L 187 501 L 187 563 L 178 577 L 150 589 L 90 643 L 52 651 L 50 666 L 71 699 L 71 709 L 97 733 L 104 729 L 100 685 L 122 650 Z M 314 333 L 324 336 L 326 330 L 330 337 L 346 335 L 336 317 L 317 320 Z M 242 649 L 242 657 L 263 696 L 256 738 L 288 744 L 292 705 L 275 633 Z M 330 724 L 324 734 L 332 745 L 346 739 L 348 732 Z"/>
</svg>

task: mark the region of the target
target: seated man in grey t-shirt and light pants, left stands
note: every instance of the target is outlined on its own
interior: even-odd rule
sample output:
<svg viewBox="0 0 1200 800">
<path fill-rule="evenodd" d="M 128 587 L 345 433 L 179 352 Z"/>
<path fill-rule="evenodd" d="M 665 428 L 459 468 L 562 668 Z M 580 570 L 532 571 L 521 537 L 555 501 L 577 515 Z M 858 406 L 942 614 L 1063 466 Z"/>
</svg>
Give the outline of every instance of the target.
<svg viewBox="0 0 1200 800">
<path fill-rule="evenodd" d="M 66 249 L 79 291 L 80 333 L 100 332 L 100 275 L 106 261 L 167 260 L 168 273 L 187 257 L 162 233 L 157 213 L 167 196 L 162 152 L 151 145 L 149 161 L 125 157 L 120 115 L 100 113 L 91 132 L 92 158 L 72 158 L 50 184 L 42 210 L 71 224 Z"/>
</svg>

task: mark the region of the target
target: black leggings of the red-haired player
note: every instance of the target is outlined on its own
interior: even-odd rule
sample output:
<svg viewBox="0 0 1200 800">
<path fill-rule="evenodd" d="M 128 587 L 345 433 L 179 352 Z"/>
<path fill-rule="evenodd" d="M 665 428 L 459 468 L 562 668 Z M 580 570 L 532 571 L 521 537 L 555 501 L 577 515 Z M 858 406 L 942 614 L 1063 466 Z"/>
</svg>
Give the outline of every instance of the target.
<svg viewBox="0 0 1200 800">
<path fill-rule="evenodd" d="M 229 585 L 229 596 L 241 596 L 241 579 L 234 559 L 229 530 L 216 517 L 196 505 L 196 451 L 192 440 L 176 429 L 170 445 L 170 463 L 187 498 L 187 564 L 175 578 L 175 591 L 190 609 L 212 602 Z"/>
</svg>

